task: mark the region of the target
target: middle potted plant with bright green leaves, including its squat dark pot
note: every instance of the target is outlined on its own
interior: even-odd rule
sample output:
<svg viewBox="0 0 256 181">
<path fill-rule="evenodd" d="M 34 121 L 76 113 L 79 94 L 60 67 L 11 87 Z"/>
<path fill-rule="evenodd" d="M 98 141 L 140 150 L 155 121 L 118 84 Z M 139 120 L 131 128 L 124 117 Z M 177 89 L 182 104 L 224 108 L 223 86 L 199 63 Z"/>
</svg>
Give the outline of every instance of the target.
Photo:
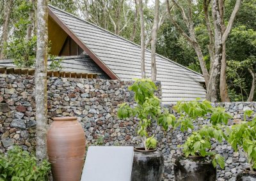
<svg viewBox="0 0 256 181">
<path fill-rule="evenodd" d="M 225 162 L 220 154 L 212 151 L 212 142 L 227 139 L 223 129 L 231 116 L 225 108 L 212 108 L 209 101 L 199 99 L 179 102 L 174 108 L 180 113 L 175 127 L 180 127 L 181 131 L 194 129 L 197 123 L 197 131 L 193 131 L 180 146 L 183 155 L 175 161 L 175 180 L 216 180 L 216 166 L 219 164 L 224 168 Z M 207 119 L 207 116 L 210 116 L 210 124 L 203 126 L 200 120 Z"/>
</svg>

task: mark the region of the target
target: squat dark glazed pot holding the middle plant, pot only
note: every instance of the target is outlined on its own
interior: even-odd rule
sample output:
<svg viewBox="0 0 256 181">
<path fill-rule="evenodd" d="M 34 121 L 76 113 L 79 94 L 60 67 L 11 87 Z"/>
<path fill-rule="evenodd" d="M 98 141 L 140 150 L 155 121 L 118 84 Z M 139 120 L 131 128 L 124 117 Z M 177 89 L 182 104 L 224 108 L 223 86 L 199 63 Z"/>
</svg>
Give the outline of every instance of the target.
<svg viewBox="0 0 256 181">
<path fill-rule="evenodd" d="M 215 181 L 216 168 L 211 161 L 201 156 L 180 156 L 174 164 L 176 181 Z"/>
</svg>

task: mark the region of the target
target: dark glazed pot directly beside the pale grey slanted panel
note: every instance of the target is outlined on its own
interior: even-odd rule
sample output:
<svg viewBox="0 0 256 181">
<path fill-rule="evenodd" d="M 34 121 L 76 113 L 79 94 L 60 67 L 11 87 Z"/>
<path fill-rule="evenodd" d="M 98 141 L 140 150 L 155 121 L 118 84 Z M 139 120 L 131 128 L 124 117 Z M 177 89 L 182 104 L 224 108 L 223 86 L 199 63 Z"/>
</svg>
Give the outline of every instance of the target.
<svg viewBox="0 0 256 181">
<path fill-rule="evenodd" d="M 164 157 L 161 152 L 134 148 L 131 181 L 160 181 L 163 168 Z"/>
</svg>

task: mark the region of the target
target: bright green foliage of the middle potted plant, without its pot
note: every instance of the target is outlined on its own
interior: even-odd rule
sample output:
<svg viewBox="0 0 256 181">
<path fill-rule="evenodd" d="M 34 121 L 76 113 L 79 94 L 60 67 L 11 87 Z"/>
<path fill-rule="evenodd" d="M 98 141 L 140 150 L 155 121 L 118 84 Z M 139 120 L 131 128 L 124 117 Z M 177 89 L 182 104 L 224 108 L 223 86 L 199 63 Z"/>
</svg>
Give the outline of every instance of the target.
<svg viewBox="0 0 256 181">
<path fill-rule="evenodd" d="M 186 142 L 180 146 L 184 156 L 211 156 L 214 167 L 219 164 L 224 168 L 224 157 L 212 151 L 212 141 L 221 142 L 223 139 L 228 139 L 223 129 L 232 116 L 225 112 L 225 108 L 213 108 L 209 101 L 200 101 L 200 99 L 179 102 L 174 108 L 180 113 L 175 127 L 180 127 L 181 131 L 187 131 L 189 128 L 194 129 L 193 123 L 198 124 L 198 130 L 193 131 Z M 209 119 L 210 124 L 202 126 L 200 119 Z"/>
</svg>

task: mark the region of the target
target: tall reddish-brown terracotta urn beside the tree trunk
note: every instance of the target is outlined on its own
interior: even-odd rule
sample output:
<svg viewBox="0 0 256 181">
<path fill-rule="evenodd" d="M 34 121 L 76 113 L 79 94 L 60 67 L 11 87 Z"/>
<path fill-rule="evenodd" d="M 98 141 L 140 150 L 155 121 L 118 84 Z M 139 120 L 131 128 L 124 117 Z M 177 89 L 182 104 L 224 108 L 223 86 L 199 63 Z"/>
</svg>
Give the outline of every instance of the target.
<svg viewBox="0 0 256 181">
<path fill-rule="evenodd" d="M 78 181 L 84 165 L 85 135 L 77 117 L 56 117 L 47 133 L 54 181 Z"/>
</svg>

